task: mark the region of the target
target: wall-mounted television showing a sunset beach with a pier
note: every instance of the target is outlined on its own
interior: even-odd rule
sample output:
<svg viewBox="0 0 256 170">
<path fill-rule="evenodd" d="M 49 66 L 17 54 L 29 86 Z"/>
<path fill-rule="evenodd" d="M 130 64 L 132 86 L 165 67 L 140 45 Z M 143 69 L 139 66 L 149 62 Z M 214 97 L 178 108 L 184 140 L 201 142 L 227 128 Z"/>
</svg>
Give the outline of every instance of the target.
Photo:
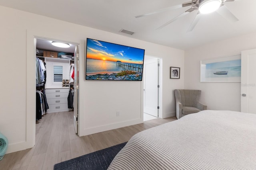
<svg viewBox="0 0 256 170">
<path fill-rule="evenodd" d="M 86 80 L 142 81 L 144 49 L 87 38 Z"/>
</svg>

